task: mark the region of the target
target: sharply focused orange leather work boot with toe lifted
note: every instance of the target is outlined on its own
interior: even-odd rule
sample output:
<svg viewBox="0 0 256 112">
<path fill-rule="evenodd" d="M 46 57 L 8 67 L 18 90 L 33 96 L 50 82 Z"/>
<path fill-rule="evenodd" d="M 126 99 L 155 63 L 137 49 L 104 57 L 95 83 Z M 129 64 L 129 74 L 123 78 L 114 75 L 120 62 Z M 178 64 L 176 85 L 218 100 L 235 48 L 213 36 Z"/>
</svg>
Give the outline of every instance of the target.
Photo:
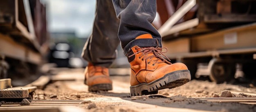
<svg viewBox="0 0 256 112">
<path fill-rule="evenodd" d="M 144 34 L 136 39 L 152 38 Z M 189 82 L 190 72 L 183 63 L 169 62 L 162 49 L 166 47 L 134 46 L 128 52 L 131 65 L 130 96 L 157 94 L 158 90 L 174 88 Z M 166 60 L 165 58 L 168 60 Z"/>
</svg>

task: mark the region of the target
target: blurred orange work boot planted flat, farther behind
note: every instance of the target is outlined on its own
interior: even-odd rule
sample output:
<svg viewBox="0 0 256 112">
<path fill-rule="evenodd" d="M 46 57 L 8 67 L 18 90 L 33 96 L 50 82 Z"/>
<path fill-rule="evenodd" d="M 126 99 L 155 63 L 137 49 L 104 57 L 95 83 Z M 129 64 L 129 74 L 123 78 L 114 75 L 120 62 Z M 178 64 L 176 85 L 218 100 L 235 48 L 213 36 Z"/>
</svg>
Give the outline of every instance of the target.
<svg viewBox="0 0 256 112">
<path fill-rule="evenodd" d="M 92 63 L 89 63 L 85 68 L 84 83 L 89 86 L 89 92 L 112 90 L 112 81 L 109 77 L 108 68 L 94 66 Z"/>
</svg>

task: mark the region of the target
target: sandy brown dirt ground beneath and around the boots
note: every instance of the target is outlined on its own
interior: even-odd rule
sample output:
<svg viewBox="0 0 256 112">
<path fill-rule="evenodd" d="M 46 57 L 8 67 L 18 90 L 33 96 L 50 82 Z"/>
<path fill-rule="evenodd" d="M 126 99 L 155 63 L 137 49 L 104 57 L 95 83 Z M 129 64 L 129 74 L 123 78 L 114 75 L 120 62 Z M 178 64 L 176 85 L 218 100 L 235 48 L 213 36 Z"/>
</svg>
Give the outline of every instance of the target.
<svg viewBox="0 0 256 112">
<path fill-rule="evenodd" d="M 256 96 L 256 88 L 247 84 L 216 84 L 210 81 L 192 80 L 181 87 L 160 90 L 155 95 L 130 97 L 127 75 L 111 76 L 113 90 L 91 93 L 83 84 L 83 69 L 65 69 L 56 74 L 74 78 L 75 81 L 52 81 L 44 90 L 36 90 L 34 99 L 85 100 L 85 106 L 82 108 L 88 112 L 256 112 L 256 105 L 252 104 L 213 103 L 192 99 L 213 96 Z"/>
</svg>

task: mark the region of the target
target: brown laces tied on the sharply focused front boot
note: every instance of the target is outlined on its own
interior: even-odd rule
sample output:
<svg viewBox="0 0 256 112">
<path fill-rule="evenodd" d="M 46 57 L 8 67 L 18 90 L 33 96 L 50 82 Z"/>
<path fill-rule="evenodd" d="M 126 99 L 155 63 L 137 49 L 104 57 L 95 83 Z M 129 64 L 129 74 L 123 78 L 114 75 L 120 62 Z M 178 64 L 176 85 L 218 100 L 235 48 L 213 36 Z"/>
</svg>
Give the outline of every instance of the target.
<svg viewBox="0 0 256 112">
<path fill-rule="evenodd" d="M 142 52 L 142 54 L 141 54 L 141 56 L 139 56 L 139 58 L 141 58 L 143 56 L 142 60 L 150 59 L 148 61 L 148 64 L 150 64 L 151 61 L 154 62 L 153 65 L 155 65 L 155 63 L 171 64 L 171 62 L 169 62 L 171 60 L 167 56 L 164 55 L 164 53 L 166 53 L 168 51 L 166 47 L 137 47 L 135 49 L 141 49 L 141 50 L 128 56 L 129 58 L 134 56 L 135 54 Z M 162 52 L 162 49 L 166 49 L 166 51 Z M 153 53 L 154 55 L 148 56 L 148 54 L 150 54 L 150 53 Z M 168 61 L 165 58 L 163 58 L 162 56 L 164 56 Z M 157 59 L 152 60 L 153 57 L 156 57 Z M 162 60 L 162 61 L 158 61 L 158 60 Z"/>
</svg>

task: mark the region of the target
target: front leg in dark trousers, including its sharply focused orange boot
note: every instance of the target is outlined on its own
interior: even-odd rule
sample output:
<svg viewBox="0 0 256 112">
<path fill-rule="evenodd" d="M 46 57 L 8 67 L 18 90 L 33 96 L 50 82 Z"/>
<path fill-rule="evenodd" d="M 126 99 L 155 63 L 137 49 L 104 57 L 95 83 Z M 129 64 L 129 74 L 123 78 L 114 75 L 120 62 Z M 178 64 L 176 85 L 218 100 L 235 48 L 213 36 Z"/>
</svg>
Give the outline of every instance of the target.
<svg viewBox="0 0 256 112">
<path fill-rule="evenodd" d="M 183 63 L 163 58 L 161 36 L 151 25 L 156 15 L 156 0 L 113 0 L 120 18 L 119 39 L 131 65 L 131 96 L 156 94 L 190 81 Z M 167 57 L 166 57 L 167 58 Z"/>
</svg>

